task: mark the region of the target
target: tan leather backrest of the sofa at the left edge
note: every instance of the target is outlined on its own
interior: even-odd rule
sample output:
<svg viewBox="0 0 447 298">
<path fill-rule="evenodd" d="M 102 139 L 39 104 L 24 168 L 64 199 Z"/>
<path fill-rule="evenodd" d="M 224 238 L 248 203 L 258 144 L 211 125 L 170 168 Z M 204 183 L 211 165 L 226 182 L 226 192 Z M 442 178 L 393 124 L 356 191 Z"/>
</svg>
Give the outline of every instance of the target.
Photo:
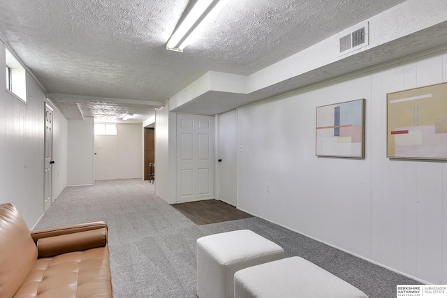
<svg viewBox="0 0 447 298">
<path fill-rule="evenodd" d="M 37 259 L 28 226 L 13 204 L 0 204 L 0 297 L 13 297 Z"/>
</svg>

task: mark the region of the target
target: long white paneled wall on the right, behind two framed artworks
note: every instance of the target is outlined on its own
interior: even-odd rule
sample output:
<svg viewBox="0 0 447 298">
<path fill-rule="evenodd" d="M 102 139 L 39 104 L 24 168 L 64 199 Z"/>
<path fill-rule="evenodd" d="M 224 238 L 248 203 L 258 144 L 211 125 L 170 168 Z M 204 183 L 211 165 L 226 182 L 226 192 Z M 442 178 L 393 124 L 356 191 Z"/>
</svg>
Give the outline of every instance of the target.
<svg viewBox="0 0 447 298">
<path fill-rule="evenodd" d="M 444 51 L 240 108 L 237 207 L 446 284 L 447 163 L 386 158 L 386 94 L 446 81 Z M 358 98 L 365 159 L 316 157 L 316 107 Z"/>
</svg>

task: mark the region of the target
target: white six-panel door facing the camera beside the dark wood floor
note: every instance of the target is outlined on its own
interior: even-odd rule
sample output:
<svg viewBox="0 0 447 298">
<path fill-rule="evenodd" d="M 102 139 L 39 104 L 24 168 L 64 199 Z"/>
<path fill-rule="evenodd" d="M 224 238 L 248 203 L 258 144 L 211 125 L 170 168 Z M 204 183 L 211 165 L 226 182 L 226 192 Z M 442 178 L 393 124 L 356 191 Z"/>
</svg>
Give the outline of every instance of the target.
<svg viewBox="0 0 447 298">
<path fill-rule="evenodd" d="M 214 198 L 214 117 L 177 114 L 177 202 Z"/>
</svg>

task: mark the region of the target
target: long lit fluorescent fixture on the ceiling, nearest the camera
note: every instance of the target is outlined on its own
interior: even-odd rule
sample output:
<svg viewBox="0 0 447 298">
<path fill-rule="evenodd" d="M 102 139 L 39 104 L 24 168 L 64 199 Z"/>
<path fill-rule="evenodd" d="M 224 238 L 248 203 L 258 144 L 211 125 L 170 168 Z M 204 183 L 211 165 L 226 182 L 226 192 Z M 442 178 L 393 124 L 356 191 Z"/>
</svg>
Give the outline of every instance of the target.
<svg viewBox="0 0 447 298">
<path fill-rule="evenodd" d="M 193 8 L 184 17 L 184 20 L 170 36 L 166 49 L 176 52 L 183 52 L 191 33 L 198 27 L 210 11 L 217 5 L 219 0 L 197 0 Z"/>
</svg>

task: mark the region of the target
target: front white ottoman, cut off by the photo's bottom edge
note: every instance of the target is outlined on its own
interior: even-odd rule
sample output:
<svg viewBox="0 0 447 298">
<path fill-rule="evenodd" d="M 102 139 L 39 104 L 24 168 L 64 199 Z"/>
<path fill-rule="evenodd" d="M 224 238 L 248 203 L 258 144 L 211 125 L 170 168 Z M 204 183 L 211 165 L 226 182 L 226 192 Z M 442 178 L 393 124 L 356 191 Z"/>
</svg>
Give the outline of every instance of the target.
<svg viewBox="0 0 447 298">
<path fill-rule="evenodd" d="M 368 298 L 364 292 L 300 257 L 249 267 L 235 274 L 235 298 Z"/>
</svg>

